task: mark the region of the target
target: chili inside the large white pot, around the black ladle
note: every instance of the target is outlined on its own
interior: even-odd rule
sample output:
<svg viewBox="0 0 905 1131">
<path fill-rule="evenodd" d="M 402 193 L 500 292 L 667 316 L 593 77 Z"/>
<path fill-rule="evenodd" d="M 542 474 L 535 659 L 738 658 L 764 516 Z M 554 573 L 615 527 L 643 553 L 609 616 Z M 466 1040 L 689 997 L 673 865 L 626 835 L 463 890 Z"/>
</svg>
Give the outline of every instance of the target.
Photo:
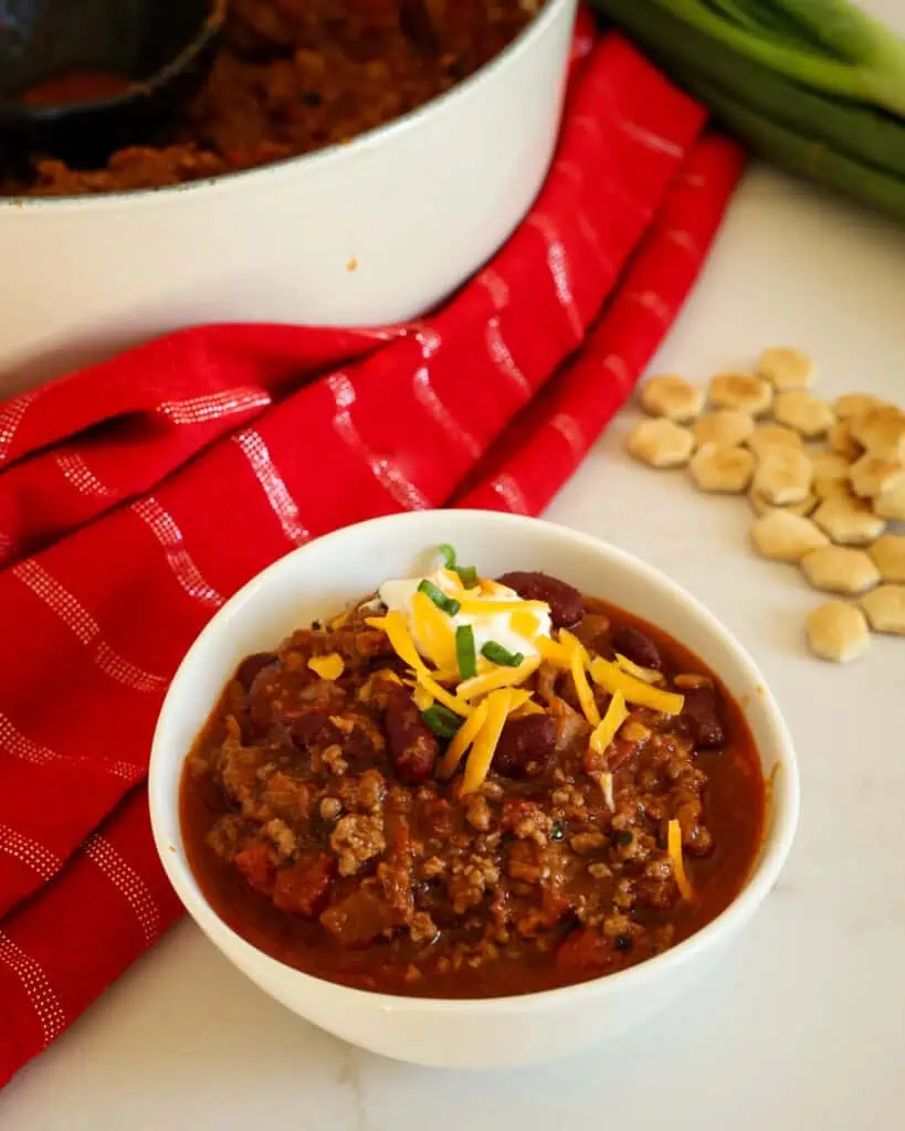
<svg viewBox="0 0 905 1131">
<path fill-rule="evenodd" d="M 25 169 L 0 165 L 0 193 L 158 189 L 346 143 L 473 74 L 540 6 L 232 0 L 207 84 L 156 146 L 120 149 L 93 170 L 35 154 Z"/>
</svg>

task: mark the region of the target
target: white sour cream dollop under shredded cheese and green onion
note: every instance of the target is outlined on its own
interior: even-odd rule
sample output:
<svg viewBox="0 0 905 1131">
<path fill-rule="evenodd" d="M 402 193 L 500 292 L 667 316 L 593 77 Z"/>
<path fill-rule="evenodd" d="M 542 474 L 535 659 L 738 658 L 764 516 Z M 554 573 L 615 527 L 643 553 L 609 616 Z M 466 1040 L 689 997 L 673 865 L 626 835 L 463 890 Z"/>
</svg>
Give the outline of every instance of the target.
<svg viewBox="0 0 905 1131">
<path fill-rule="evenodd" d="M 479 657 L 484 645 L 491 641 L 501 645 L 507 651 L 514 654 L 522 653 L 526 659 L 540 655 L 535 641 L 537 637 L 549 637 L 552 627 L 549 605 L 544 603 L 541 607 L 532 607 L 531 612 L 536 627 L 533 627 L 529 634 L 523 636 L 512 628 L 512 613 L 517 612 L 518 606 L 524 604 L 524 598 L 519 597 L 515 589 L 510 589 L 505 585 L 495 585 L 493 593 L 469 589 L 467 597 L 463 597 L 462 592 L 450 582 L 447 572 L 443 569 L 437 569 L 425 577 L 385 581 L 379 590 L 380 599 L 389 612 L 400 612 L 405 615 L 415 647 L 425 659 L 430 659 L 431 657 L 424 647 L 424 641 L 419 638 L 417 622 L 413 606 L 417 587 L 425 580 L 436 585 L 446 596 L 453 597 L 456 601 L 467 599 L 468 604 L 493 603 L 497 605 L 500 602 L 506 602 L 512 605 L 512 612 L 465 613 L 459 610 L 458 613 L 448 618 L 454 634 L 460 625 L 471 624 L 474 632 L 475 651 Z"/>
</svg>

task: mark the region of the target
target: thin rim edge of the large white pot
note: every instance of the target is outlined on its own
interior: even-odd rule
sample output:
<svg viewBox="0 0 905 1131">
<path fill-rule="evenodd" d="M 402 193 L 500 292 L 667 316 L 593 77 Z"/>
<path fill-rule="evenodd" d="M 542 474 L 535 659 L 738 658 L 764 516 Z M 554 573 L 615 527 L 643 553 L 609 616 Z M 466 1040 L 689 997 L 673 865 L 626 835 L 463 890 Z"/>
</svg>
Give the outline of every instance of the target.
<svg viewBox="0 0 905 1131">
<path fill-rule="evenodd" d="M 0 216 L 3 210 L 15 209 L 17 215 L 40 215 L 52 211 L 61 213 L 69 210 L 100 210 L 110 208 L 150 208 L 153 204 L 160 201 L 165 205 L 181 196 L 198 196 L 212 192 L 229 192 L 242 189 L 249 184 L 253 187 L 255 181 L 264 178 L 288 178 L 295 174 L 296 166 L 304 164 L 309 170 L 316 172 L 330 165 L 342 165 L 354 161 L 359 154 L 378 149 L 385 143 L 391 143 L 396 138 L 414 132 L 429 118 L 445 116 L 450 113 L 450 106 L 457 102 L 473 100 L 480 96 L 485 86 L 495 80 L 495 77 L 509 66 L 514 64 L 522 55 L 527 54 L 535 44 L 541 41 L 550 29 L 570 8 L 577 8 L 577 0 L 544 0 L 544 7 L 527 24 L 523 31 L 507 44 L 506 48 L 494 55 L 488 63 L 480 67 L 467 78 L 445 90 L 437 97 L 431 98 L 423 105 L 411 110 L 399 118 L 394 118 L 382 126 L 367 130 L 352 138 L 348 143 L 337 143 L 316 149 L 313 153 L 299 154 L 294 157 L 284 157 L 282 161 L 272 162 L 267 165 L 258 165 L 252 169 L 235 170 L 230 173 L 218 173 L 215 176 L 201 178 L 197 181 L 186 181 L 180 184 L 165 184 L 155 189 L 128 189 L 119 192 L 70 195 L 60 197 L 28 197 L 28 196 L 0 196 Z"/>
</svg>

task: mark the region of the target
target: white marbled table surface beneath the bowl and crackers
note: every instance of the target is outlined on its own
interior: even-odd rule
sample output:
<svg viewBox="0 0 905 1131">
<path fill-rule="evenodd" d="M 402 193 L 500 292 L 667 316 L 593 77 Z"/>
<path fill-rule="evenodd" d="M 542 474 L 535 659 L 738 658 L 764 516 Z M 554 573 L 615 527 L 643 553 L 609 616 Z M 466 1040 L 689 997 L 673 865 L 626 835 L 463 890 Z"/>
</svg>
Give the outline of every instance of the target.
<svg viewBox="0 0 905 1131">
<path fill-rule="evenodd" d="M 752 171 L 656 361 L 706 378 L 799 344 L 819 390 L 905 404 L 905 231 Z M 614 423 L 549 517 L 703 598 L 795 737 L 798 843 L 741 944 L 665 1016 L 541 1070 L 462 1074 L 357 1052 L 299 1020 L 181 923 L 0 1095 L 3 1131 L 837 1131 L 905 1126 L 905 641 L 809 658 L 818 598 L 747 549 L 747 503 L 623 454 Z M 555 1033 L 550 1034 L 555 1044 Z"/>
</svg>

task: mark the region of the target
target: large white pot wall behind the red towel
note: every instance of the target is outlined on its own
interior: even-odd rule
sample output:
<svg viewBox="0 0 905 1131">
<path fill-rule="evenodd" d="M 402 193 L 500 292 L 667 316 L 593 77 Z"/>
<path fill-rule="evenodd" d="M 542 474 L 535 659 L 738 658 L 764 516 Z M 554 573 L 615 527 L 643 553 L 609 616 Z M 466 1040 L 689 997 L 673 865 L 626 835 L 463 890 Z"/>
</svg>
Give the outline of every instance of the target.
<svg viewBox="0 0 905 1131">
<path fill-rule="evenodd" d="M 549 0 L 472 78 L 347 146 L 157 191 L 0 199 L 0 395 L 190 325 L 422 314 L 543 182 L 575 8 Z"/>
</svg>

